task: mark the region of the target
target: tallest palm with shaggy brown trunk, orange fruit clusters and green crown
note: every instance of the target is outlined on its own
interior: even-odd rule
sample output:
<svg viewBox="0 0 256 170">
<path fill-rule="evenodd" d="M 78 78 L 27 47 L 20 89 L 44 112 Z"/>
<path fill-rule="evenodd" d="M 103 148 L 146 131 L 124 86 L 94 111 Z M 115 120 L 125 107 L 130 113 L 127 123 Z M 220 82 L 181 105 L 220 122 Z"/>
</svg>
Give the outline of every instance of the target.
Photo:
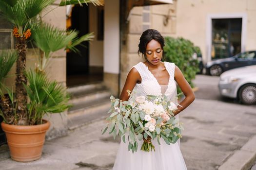
<svg viewBox="0 0 256 170">
<path fill-rule="evenodd" d="M 37 17 L 43 9 L 47 8 L 55 0 L 17 0 L 11 5 L 8 1 L 0 0 L 0 10 L 15 25 L 14 35 L 18 40 L 16 49 L 19 53 L 16 61 L 15 80 L 15 102 L 19 117 L 17 124 L 25 125 L 27 124 L 27 93 L 23 84 L 27 84 L 27 79 L 24 75 L 26 68 L 26 41 L 31 35 L 28 26 L 33 18 Z"/>
</svg>

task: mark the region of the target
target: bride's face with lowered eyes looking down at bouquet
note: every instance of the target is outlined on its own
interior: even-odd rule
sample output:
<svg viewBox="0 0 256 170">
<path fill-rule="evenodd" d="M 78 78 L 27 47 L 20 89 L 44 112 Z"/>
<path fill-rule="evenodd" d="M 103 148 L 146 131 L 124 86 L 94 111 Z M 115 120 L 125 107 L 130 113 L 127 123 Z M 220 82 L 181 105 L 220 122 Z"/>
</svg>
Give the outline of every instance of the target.
<svg viewBox="0 0 256 170">
<path fill-rule="evenodd" d="M 153 65 L 158 65 L 158 63 L 160 63 L 161 61 L 163 50 L 161 48 L 160 43 L 152 39 L 147 44 L 145 53 L 146 53 L 148 62 L 150 62 Z"/>
</svg>

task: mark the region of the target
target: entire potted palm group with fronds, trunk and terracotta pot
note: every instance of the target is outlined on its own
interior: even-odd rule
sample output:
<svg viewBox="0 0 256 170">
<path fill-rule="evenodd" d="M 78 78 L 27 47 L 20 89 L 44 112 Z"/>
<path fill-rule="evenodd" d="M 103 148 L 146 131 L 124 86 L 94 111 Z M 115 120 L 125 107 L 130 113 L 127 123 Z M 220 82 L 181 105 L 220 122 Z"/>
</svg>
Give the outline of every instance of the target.
<svg viewBox="0 0 256 170">
<path fill-rule="evenodd" d="M 33 161 L 41 156 L 45 133 L 50 123 L 44 115 L 60 113 L 69 105 L 66 89 L 50 81 L 45 73 L 54 51 L 69 49 L 89 41 L 93 34 L 78 37 L 78 32 L 60 30 L 41 20 L 41 12 L 55 0 L 0 0 L 0 11 L 14 25 L 17 38 L 16 50 L 0 51 L 0 116 L 1 127 L 6 133 L 12 159 Z M 81 3 L 79 0 L 67 4 Z M 83 0 L 100 4 L 98 0 Z M 61 1 L 60 5 L 65 5 Z M 33 41 L 38 51 L 35 69 L 26 68 L 27 41 Z M 4 83 L 7 73 L 16 62 L 15 91 Z"/>
</svg>

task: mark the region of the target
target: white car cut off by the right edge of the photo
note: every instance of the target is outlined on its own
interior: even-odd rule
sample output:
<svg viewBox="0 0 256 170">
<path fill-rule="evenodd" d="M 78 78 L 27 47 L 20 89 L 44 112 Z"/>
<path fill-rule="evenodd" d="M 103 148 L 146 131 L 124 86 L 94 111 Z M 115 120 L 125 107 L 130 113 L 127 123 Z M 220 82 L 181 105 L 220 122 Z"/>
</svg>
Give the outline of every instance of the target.
<svg viewBox="0 0 256 170">
<path fill-rule="evenodd" d="M 256 65 L 235 68 L 222 73 L 218 89 L 222 96 L 237 98 L 244 104 L 255 104 Z"/>
</svg>

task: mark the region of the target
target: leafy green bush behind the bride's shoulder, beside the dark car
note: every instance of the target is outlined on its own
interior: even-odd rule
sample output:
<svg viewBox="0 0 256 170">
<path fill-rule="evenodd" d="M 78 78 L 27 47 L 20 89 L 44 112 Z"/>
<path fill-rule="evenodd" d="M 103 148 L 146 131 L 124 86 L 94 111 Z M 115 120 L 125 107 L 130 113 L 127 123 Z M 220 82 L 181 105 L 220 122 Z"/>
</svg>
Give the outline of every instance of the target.
<svg viewBox="0 0 256 170">
<path fill-rule="evenodd" d="M 194 53 L 200 55 L 201 51 L 190 40 L 181 37 L 165 37 L 165 60 L 175 63 L 192 87 L 194 87 L 192 80 L 196 78 L 196 74 L 199 71 L 198 60 L 193 58 Z M 177 93 L 180 92 L 180 88 L 177 88 Z"/>
</svg>

